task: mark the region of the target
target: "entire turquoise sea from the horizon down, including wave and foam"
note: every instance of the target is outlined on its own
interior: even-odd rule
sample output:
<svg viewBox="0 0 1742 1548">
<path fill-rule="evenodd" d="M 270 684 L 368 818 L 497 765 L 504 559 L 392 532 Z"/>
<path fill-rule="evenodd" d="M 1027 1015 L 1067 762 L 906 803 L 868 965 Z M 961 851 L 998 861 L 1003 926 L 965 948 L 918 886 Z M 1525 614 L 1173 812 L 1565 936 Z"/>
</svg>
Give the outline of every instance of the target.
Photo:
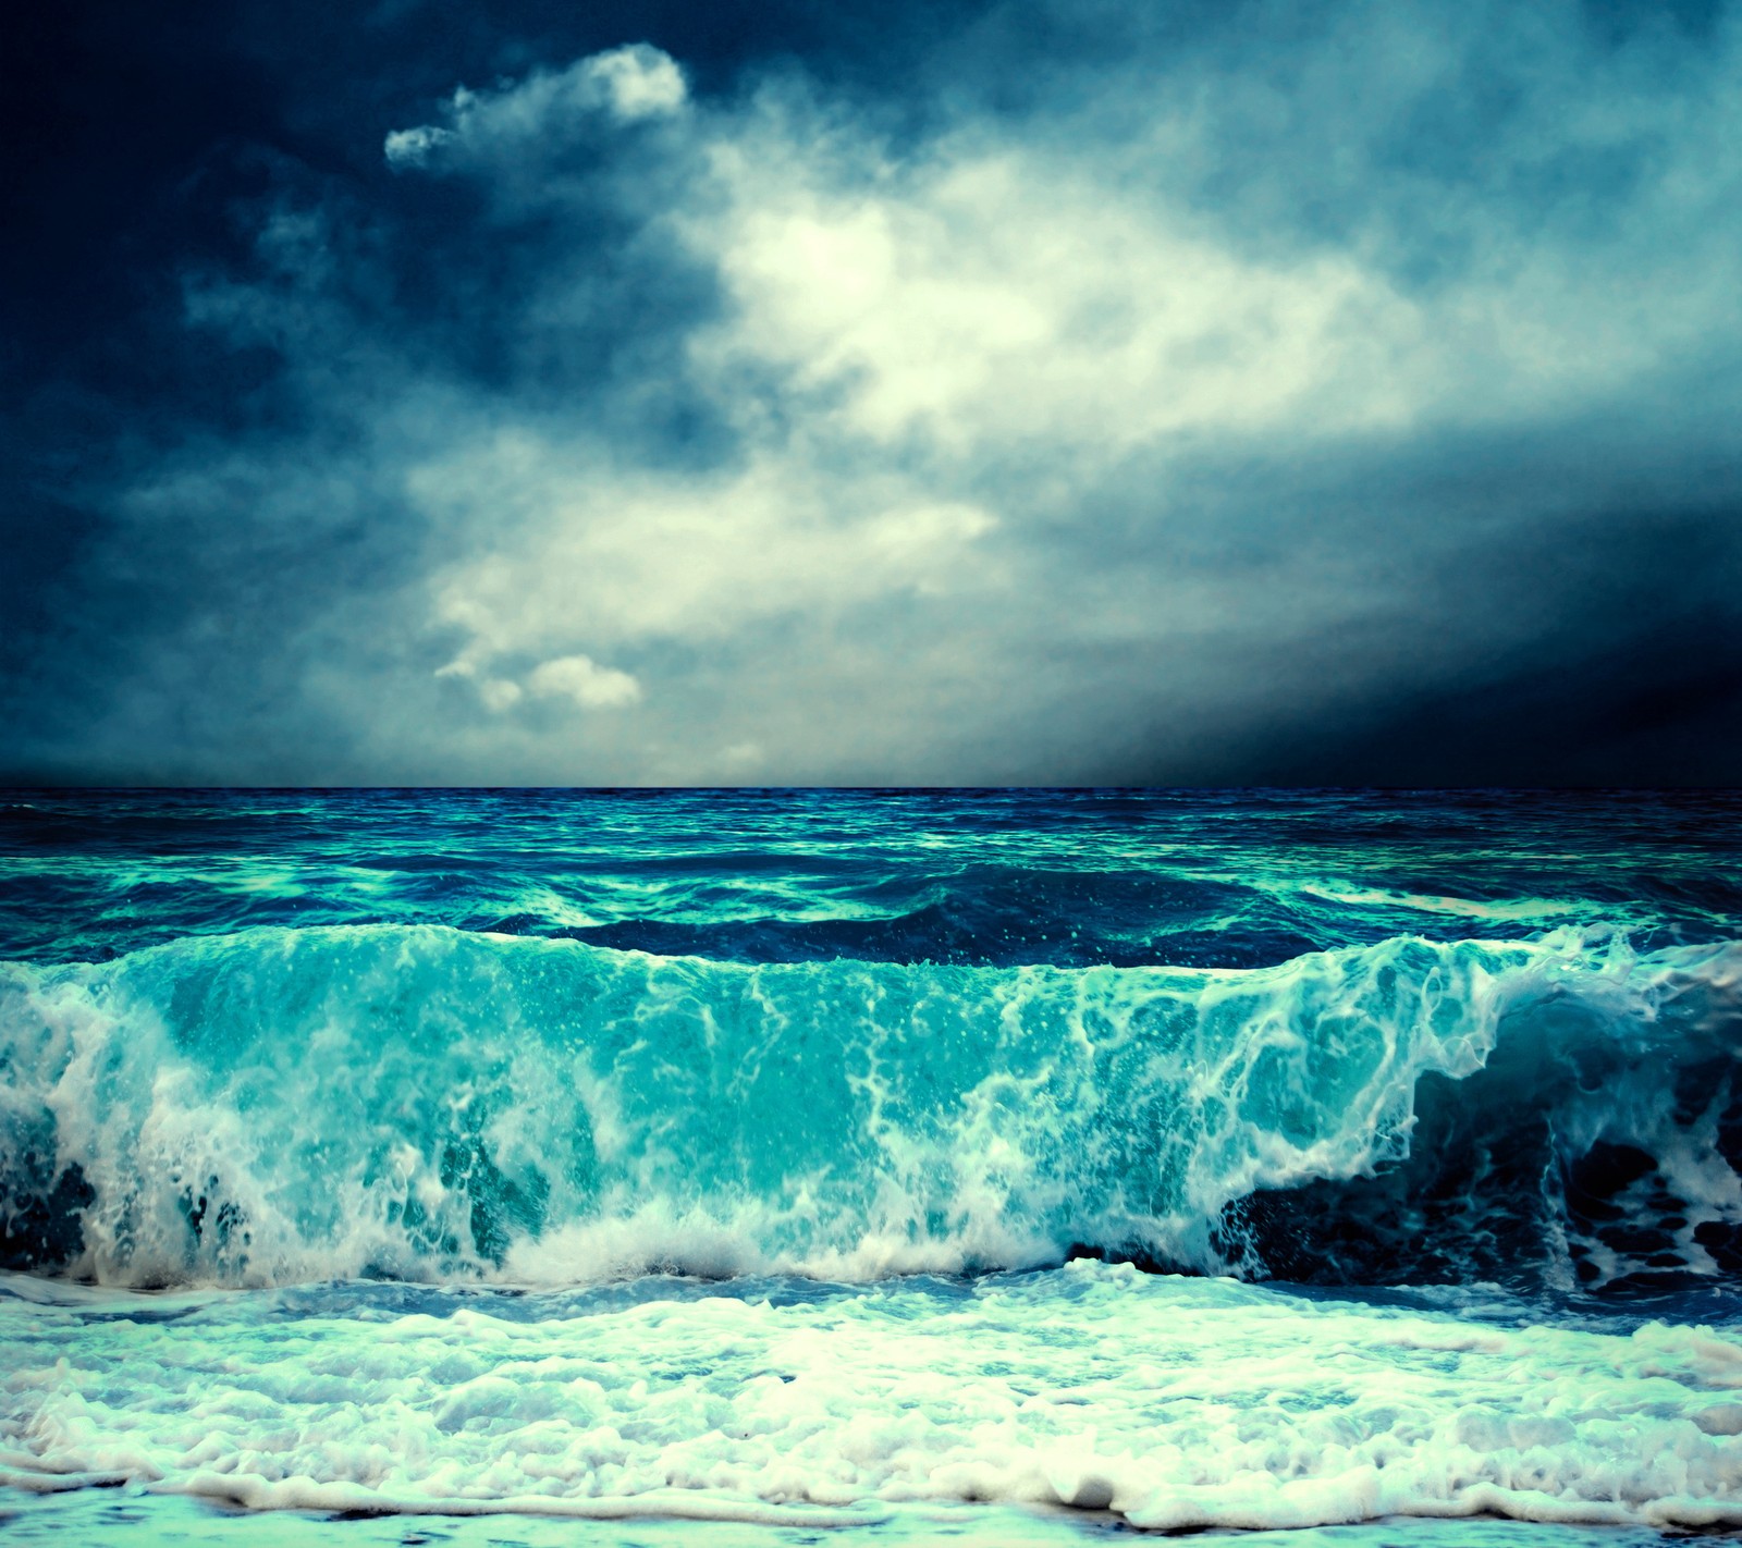
<svg viewBox="0 0 1742 1548">
<path fill-rule="evenodd" d="M 0 792 L 0 1536 L 1739 1529 L 1739 794 Z"/>
</svg>

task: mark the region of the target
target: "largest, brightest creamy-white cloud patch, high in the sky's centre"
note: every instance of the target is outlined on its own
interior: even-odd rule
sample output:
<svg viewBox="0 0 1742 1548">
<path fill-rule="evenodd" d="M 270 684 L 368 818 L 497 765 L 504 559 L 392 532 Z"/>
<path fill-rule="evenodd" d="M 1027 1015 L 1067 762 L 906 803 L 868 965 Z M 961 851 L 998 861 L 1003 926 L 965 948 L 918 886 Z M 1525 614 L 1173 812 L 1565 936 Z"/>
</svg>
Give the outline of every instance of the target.
<svg viewBox="0 0 1742 1548">
<path fill-rule="evenodd" d="M 866 186 L 807 143 L 758 122 L 716 150 L 725 199 L 683 230 L 733 308 L 693 352 L 833 394 L 841 432 L 1118 456 L 1308 399 L 1326 434 L 1395 423 L 1420 397 L 1399 397 L 1392 360 L 1416 308 L 1347 254 L 1252 261 L 1049 148 L 944 143 Z"/>
</svg>

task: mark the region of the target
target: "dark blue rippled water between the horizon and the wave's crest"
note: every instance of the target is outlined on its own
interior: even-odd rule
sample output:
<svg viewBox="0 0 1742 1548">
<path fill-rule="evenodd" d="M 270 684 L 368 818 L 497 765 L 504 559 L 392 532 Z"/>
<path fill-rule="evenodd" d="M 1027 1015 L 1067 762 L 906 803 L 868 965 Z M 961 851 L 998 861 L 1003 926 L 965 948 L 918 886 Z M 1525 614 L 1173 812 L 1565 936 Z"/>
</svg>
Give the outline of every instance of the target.
<svg viewBox="0 0 1742 1548">
<path fill-rule="evenodd" d="M 730 961 L 1261 966 L 1730 939 L 1737 792 L 0 792 L 0 954 L 448 925 Z"/>
</svg>

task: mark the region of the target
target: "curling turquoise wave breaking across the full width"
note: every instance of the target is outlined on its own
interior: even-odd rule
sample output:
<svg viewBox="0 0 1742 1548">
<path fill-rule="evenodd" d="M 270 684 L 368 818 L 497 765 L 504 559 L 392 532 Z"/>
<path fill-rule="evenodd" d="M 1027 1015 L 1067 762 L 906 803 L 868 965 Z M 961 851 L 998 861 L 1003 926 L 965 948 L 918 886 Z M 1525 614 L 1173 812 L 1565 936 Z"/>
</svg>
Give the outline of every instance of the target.
<svg viewBox="0 0 1742 1548">
<path fill-rule="evenodd" d="M 1742 1275 L 1742 946 L 1256 970 L 721 963 L 442 926 L 0 966 L 0 1255 L 587 1282 L 1073 1250 L 1327 1283 Z"/>
</svg>

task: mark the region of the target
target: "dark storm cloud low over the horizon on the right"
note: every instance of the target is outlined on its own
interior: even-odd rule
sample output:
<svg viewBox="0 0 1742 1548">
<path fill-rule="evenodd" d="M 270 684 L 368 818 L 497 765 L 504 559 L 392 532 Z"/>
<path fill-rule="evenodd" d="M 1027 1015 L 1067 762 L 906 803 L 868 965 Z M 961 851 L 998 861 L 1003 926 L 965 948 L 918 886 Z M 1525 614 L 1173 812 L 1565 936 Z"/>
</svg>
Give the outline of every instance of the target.
<svg viewBox="0 0 1742 1548">
<path fill-rule="evenodd" d="M 1467 437 L 1383 465 L 1239 468 L 1242 508 L 1317 528 L 1287 555 L 1228 535 L 1249 566 L 1239 592 L 1294 594 L 1218 637 L 1233 676 L 1268 684 L 1263 710 L 1228 721 L 1211 702 L 1183 731 L 1139 714 L 1084 777 L 1185 764 L 1214 784 L 1259 763 L 1315 785 L 1733 780 L 1742 489 L 1685 441 L 1644 446 L 1655 434 L 1573 423 L 1528 448 Z"/>
</svg>

